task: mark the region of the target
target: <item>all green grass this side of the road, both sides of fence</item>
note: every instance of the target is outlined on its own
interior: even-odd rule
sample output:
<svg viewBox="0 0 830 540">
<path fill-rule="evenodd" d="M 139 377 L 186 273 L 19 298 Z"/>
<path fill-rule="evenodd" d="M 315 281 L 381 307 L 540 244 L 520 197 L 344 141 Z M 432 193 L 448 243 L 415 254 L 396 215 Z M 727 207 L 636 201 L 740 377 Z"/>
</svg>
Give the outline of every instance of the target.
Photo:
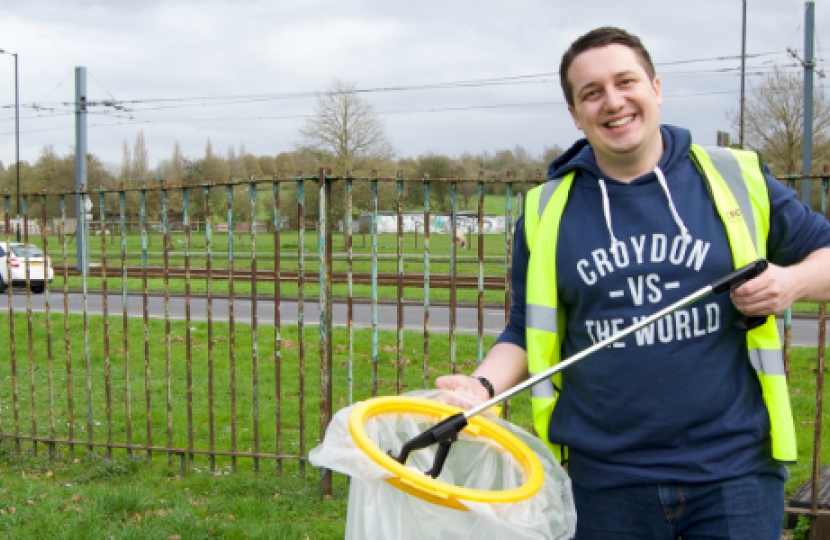
<svg viewBox="0 0 830 540">
<path fill-rule="evenodd" d="M 53 337 L 47 339 L 46 320 L 33 314 L 32 354 L 28 349 L 29 323 L 24 315 L 14 320 L 16 362 L 0 364 L 0 422 L 4 432 L 30 432 L 34 419 L 40 434 L 68 434 L 68 388 L 72 388 L 75 409 L 75 436 L 80 441 L 88 437 L 88 426 L 95 430 L 95 440 L 106 440 L 111 430 L 112 439 L 123 441 L 127 418 L 133 426 L 133 442 L 146 442 L 149 423 L 155 444 L 172 440 L 174 446 L 186 446 L 188 420 L 187 362 L 182 337 L 186 329 L 181 322 L 171 323 L 168 340 L 164 338 L 163 324 L 150 327 L 150 353 L 145 358 L 145 338 L 141 321 L 130 321 L 128 344 L 124 354 L 122 321 L 110 321 L 110 355 L 100 333 L 87 344 L 83 340 L 83 321 L 70 316 L 69 332 L 64 332 L 62 316 L 53 316 L 50 325 Z M 100 329 L 101 318 L 90 317 L 90 327 Z M 10 323 L 7 315 L 0 315 L 0 326 Z M 237 325 L 235 333 L 235 361 L 231 362 L 229 329 L 227 325 L 213 328 L 215 347 L 213 377 L 215 385 L 215 447 L 230 448 L 233 434 L 231 419 L 236 420 L 236 447 L 242 451 L 253 445 L 254 425 L 260 433 L 260 450 L 276 449 L 275 401 L 277 389 L 274 373 L 274 330 L 260 329 L 257 334 L 257 372 L 254 358 L 254 333 L 250 327 Z M 63 339 L 71 336 L 69 366 L 73 375 L 71 385 L 66 378 L 67 355 Z M 60 339 L 58 339 L 58 336 Z M 158 336 L 158 337 L 156 337 Z M 302 340 L 308 357 L 300 367 L 298 355 L 300 340 L 297 329 L 281 330 L 281 422 L 284 441 L 283 454 L 301 456 L 319 440 L 317 402 L 319 399 L 319 365 L 316 356 L 319 332 L 307 329 Z M 206 357 L 207 329 L 194 324 L 191 329 L 191 378 L 193 385 L 194 420 L 192 422 L 195 447 L 208 444 L 210 416 L 206 381 L 210 374 Z M 373 387 L 377 393 L 396 393 L 396 381 L 401 368 L 405 389 L 424 386 L 424 376 L 432 381 L 450 369 L 450 359 L 456 359 L 460 371 L 469 371 L 475 364 L 477 343 L 475 337 L 458 336 L 455 354 L 446 336 L 431 336 L 430 358 L 423 363 L 423 336 L 404 335 L 403 361 L 399 364 L 393 333 L 377 337 L 377 360 L 372 358 L 370 332 L 356 333 L 355 354 L 350 362 L 347 336 L 342 329 L 335 330 L 334 392 L 336 409 L 348 402 L 349 369 L 353 374 L 351 386 L 354 400 L 370 396 Z M 487 345 L 491 343 L 487 341 Z M 51 345 L 51 356 L 48 347 Z M 87 361 L 86 347 L 89 347 Z M 168 347 L 170 353 L 167 352 Z M 4 346 L 4 355 L 7 349 Z M 815 417 L 815 349 L 797 349 L 793 352 L 790 385 L 796 427 L 799 430 L 801 460 L 790 469 L 788 493 L 797 489 L 810 474 L 810 454 Z M 129 377 L 125 358 L 132 363 Z M 168 390 L 167 373 L 170 385 Z M 32 360 L 30 360 L 32 359 Z M 145 379 L 148 362 L 150 379 Z M 235 378 L 231 379 L 231 374 Z M 304 375 L 305 405 L 299 403 L 300 374 Z M 107 394 L 110 381 L 112 407 L 107 416 Z M 130 393 L 126 381 L 130 381 Z M 51 381 L 51 384 L 50 384 Z M 87 383 L 89 381 L 89 383 Z M 258 388 L 258 407 L 253 400 L 254 383 Z M 145 408 L 145 383 L 149 382 L 151 403 L 149 419 Z M 233 387 L 231 385 L 234 385 Z M 34 388 L 34 392 L 32 392 Z M 91 388 L 91 393 L 88 393 Z M 235 416 L 230 415 L 230 396 L 235 393 Z M 172 396 L 168 407 L 167 396 Z M 16 398 L 15 398 L 16 396 Z M 129 399 L 128 399 L 129 397 Z M 824 387 L 824 400 L 830 400 L 830 385 Z M 127 403 L 131 414 L 127 415 Z M 259 410 L 259 416 L 255 414 Z M 51 412 L 54 411 L 54 412 Z M 170 423 L 168 423 L 168 411 Z M 825 434 L 830 432 L 830 416 L 824 415 Z M 514 398 L 511 419 L 528 427 L 529 403 L 526 395 Z M 300 422 L 305 422 L 303 437 L 299 436 Z M 54 428 L 51 427 L 54 424 Z M 168 435 L 168 425 L 172 432 Z M 300 448 L 304 447 L 303 451 Z M 19 451 L 18 451 L 19 450 Z M 56 455 L 49 457 L 44 445 L 35 448 L 23 442 L 18 449 L 12 440 L 0 444 L 0 537 L 4 538 L 286 538 L 329 539 L 342 538 L 347 511 L 348 485 L 340 475 L 334 477 L 334 494 L 323 498 L 319 492 L 318 472 L 301 467 L 298 459 L 281 460 L 281 470 L 275 460 L 260 459 L 259 473 L 253 471 L 250 458 L 239 458 L 233 471 L 230 458 L 218 457 L 211 464 L 206 457 L 196 456 L 186 475 L 181 475 L 176 458 L 169 467 L 164 452 L 154 452 L 152 461 L 146 453 L 136 452 L 132 457 L 115 450 L 111 456 L 106 449 L 86 452 L 82 443 L 74 455 L 67 446 L 58 446 Z M 823 448 L 822 462 L 830 462 L 830 448 Z"/>
</svg>

